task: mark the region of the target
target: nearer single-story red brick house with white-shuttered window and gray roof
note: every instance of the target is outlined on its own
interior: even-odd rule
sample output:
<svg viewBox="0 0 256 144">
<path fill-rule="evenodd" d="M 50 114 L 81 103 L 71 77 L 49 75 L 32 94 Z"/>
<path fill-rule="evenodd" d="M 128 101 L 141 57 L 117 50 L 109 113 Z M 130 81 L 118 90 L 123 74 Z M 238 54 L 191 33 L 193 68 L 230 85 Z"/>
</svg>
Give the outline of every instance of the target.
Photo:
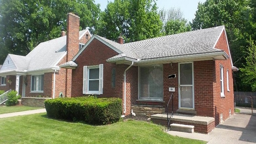
<svg viewBox="0 0 256 144">
<path fill-rule="evenodd" d="M 232 72 L 238 68 L 224 26 L 132 43 L 93 35 L 60 67 L 72 69 L 72 96 L 119 97 L 124 115 L 136 106 L 164 109 L 171 94 L 174 112 L 213 117 L 210 127 L 234 114 Z"/>
</svg>

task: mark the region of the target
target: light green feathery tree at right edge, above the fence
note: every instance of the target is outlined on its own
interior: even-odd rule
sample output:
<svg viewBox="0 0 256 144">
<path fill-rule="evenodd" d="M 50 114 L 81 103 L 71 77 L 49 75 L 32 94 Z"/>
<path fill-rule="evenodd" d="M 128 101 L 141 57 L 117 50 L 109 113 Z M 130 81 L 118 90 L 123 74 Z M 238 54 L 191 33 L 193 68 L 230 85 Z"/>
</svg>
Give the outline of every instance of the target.
<svg viewBox="0 0 256 144">
<path fill-rule="evenodd" d="M 248 52 L 246 52 L 248 55 L 245 58 L 246 65 L 240 70 L 243 72 L 243 83 L 250 85 L 252 91 L 256 92 L 256 45 L 252 39 L 248 43 Z"/>
</svg>

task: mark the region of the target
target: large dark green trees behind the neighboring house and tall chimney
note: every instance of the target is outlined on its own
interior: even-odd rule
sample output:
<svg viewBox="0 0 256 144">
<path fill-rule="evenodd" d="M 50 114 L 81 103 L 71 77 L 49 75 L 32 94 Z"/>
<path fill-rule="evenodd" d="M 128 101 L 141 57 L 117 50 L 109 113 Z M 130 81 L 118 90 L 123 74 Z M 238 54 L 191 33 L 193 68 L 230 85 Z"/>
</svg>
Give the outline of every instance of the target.
<svg viewBox="0 0 256 144">
<path fill-rule="evenodd" d="M 80 29 L 93 31 L 100 5 L 94 0 L 0 0 L 0 63 L 7 53 L 26 55 L 39 43 L 59 37 L 68 12 L 78 13 Z"/>
</svg>

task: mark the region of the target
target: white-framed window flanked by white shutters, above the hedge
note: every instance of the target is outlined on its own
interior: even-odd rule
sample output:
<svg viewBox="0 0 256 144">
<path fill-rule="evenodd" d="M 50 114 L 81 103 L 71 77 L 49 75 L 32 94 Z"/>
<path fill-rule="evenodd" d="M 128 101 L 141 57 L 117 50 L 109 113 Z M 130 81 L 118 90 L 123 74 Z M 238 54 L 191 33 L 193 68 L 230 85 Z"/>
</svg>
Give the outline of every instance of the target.
<svg viewBox="0 0 256 144">
<path fill-rule="evenodd" d="M 103 93 L 103 64 L 84 66 L 83 94 Z"/>
</svg>

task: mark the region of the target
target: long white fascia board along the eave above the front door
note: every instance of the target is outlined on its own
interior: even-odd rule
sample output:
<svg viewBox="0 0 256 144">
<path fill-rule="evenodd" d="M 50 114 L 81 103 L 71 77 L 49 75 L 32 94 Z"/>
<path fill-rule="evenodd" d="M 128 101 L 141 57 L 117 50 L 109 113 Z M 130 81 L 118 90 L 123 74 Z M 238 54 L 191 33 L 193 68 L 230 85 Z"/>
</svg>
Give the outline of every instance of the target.
<svg viewBox="0 0 256 144">
<path fill-rule="evenodd" d="M 157 62 L 157 61 L 172 61 L 172 60 L 186 60 L 186 59 L 195 59 L 195 58 L 213 58 L 216 56 L 223 56 L 226 60 L 228 59 L 228 55 L 226 52 L 212 52 L 212 53 L 203 53 L 203 54 L 193 54 L 193 55 L 183 55 L 183 56 L 174 56 L 174 57 L 166 57 L 166 58 L 156 58 L 149 60 L 141 60 L 139 63 L 144 62 Z"/>
</svg>

